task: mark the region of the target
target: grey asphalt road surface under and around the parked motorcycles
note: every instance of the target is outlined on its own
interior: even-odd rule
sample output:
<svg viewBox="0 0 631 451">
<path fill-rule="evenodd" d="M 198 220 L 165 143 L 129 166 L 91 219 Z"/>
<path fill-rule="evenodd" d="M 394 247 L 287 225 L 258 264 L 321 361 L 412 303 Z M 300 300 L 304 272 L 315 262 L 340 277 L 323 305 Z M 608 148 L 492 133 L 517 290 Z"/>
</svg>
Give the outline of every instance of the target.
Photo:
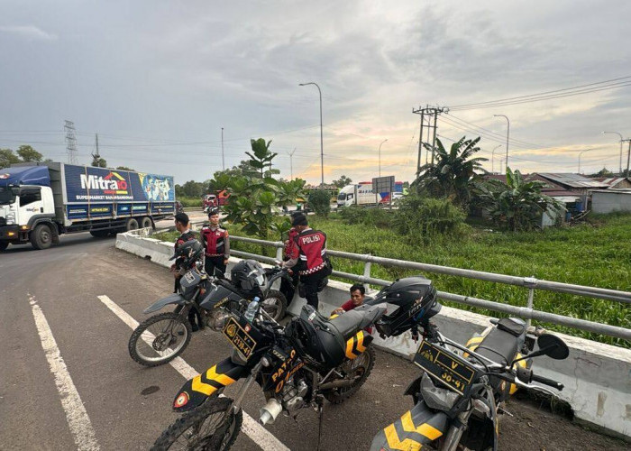
<svg viewBox="0 0 631 451">
<path fill-rule="evenodd" d="M 164 268 L 116 250 L 112 238 L 68 235 L 47 251 L 21 245 L 0 253 L 0 449 L 148 449 L 178 418 L 170 406 L 185 378 L 171 365 L 133 362 L 132 328 L 99 297 L 142 321 L 143 308 L 171 290 Z M 229 351 L 222 336 L 203 331 L 182 358 L 201 372 Z M 402 393 L 416 374 L 404 359 L 378 352 L 361 391 L 325 405 L 322 449 L 368 449 L 411 407 Z M 252 387 L 245 412 L 258 419 L 263 404 Z M 506 419 L 501 449 L 625 449 L 543 410 L 517 402 L 509 410 L 516 415 Z M 318 440 L 313 410 L 266 429 L 294 450 L 313 450 Z M 234 449 L 261 449 L 265 437 L 242 432 Z"/>
</svg>

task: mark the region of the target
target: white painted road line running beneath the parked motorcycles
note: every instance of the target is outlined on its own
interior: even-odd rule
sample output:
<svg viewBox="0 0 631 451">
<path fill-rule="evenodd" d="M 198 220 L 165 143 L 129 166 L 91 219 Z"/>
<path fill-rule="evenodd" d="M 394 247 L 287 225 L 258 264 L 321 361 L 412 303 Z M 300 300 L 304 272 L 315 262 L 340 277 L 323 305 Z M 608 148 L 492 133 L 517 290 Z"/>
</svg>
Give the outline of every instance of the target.
<svg viewBox="0 0 631 451">
<path fill-rule="evenodd" d="M 99 296 L 98 299 L 100 299 L 107 308 L 112 310 L 114 315 L 121 318 L 123 323 L 127 326 L 132 329 L 138 327 L 138 321 L 133 319 L 129 313 L 124 311 L 123 308 L 120 308 L 112 299 L 109 299 L 107 296 Z M 192 379 L 199 374 L 195 368 L 187 364 L 187 362 L 181 357 L 174 358 L 169 362 L 169 365 L 175 368 L 178 373 L 184 376 L 185 379 Z M 261 446 L 261 449 L 265 451 L 289 451 L 287 446 L 283 445 L 283 443 L 277 437 L 274 437 L 269 430 L 263 428 L 261 424 L 251 418 L 245 410 L 243 410 L 243 423 L 241 428 L 254 443 Z"/>
</svg>

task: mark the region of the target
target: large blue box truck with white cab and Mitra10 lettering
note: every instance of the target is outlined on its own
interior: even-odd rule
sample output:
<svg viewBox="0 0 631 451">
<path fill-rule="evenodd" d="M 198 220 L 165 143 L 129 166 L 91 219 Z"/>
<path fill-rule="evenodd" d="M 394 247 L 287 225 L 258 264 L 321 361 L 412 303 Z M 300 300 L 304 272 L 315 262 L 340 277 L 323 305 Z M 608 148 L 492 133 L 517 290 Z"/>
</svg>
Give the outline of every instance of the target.
<svg viewBox="0 0 631 451">
<path fill-rule="evenodd" d="M 173 177 L 60 162 L 0 169 L 0 251 L 30 242 L 47 249 L 59 235 L 115 235 L 175 213 Z"/>
</svg>

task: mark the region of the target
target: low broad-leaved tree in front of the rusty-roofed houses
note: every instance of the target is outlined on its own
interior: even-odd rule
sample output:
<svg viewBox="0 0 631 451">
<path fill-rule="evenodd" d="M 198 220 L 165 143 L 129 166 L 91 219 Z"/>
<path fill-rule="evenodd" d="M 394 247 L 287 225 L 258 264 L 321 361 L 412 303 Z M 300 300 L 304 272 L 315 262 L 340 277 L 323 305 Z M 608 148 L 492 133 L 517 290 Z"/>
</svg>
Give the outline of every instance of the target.
<svg viewBox="0 0 631 451">
<path fill-rule="evenodd" d="M 542 194 L 545 183 L 526 181 L 519 170 L 506 170 L 506 183 L 488 180 L 480 183 L 475 194 L 480 206 L 486 208 L 494 223 L 517 232 L 538 227 L 544 212 L 559 212 L 562 203 Z"/>
</svg>

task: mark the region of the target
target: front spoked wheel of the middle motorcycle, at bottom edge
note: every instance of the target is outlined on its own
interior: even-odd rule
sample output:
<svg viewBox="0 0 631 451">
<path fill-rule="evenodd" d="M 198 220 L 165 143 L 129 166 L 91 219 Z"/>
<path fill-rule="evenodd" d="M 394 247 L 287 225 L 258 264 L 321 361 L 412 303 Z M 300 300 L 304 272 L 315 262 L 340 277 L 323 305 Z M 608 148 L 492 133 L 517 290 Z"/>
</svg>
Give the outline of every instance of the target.
<svg viewBox="0 0 631 451">
<path fill-rule="evenodd" d="M 206 400 L 201 407 L 187 412 L 165 429 L 151 446 L 151 451 L 228 451 L 239 435 L 243 421 L 242 410 L 225 418 L 225 413 L 232 405 L 233 400 L 230 398 Z"/>
</svg>

